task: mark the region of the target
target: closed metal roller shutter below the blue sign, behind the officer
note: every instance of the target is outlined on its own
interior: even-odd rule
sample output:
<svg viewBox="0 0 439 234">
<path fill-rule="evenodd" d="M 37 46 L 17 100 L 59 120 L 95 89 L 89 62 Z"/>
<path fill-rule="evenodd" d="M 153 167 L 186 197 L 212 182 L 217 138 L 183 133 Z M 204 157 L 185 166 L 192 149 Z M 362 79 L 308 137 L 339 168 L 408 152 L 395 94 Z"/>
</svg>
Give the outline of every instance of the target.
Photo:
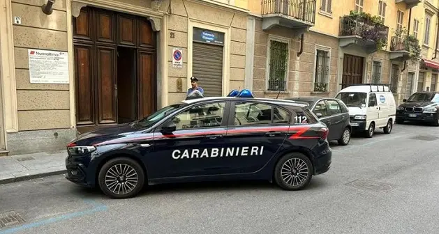
<svg viewBox="0 0 439 234">
<path fill-rule="evenodd" d="M 193 42 L 192 75 L 204 89 L 204 97 L 223 95 L 223 47 Z"/>
</svg>

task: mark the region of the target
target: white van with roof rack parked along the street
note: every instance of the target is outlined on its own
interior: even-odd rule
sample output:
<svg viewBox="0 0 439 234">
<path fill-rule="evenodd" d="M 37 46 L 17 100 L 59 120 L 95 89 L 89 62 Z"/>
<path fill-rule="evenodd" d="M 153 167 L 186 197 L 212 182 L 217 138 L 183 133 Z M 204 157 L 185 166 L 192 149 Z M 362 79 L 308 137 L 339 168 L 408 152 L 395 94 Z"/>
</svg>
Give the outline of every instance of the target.
<svg viewBox="0 0 439 234">
<path fill-rule="evenodd" d="M 392 132 L 396 116 L 396 103 L 386 84 L 355 84 L 343 88 L 336 98 L 349 108 L 352 132 L 364 132 L 373 137 L 378 128 Z"/>
</svg>

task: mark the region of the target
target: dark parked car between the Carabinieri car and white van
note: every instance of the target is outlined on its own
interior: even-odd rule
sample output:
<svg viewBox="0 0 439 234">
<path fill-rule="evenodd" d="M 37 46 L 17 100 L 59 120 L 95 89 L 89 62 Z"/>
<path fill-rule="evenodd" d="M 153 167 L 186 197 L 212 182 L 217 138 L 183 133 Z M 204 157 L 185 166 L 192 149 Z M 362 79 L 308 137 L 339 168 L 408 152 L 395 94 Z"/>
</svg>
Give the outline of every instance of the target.
<svg viewBox="0 0 439 234">
<path fill-rule="evenodd" d="M 336 98 L 300 97 L 287 98 L 296 102 L 304 102 L 329 128 L 328 141 L 338 141 L 342 146 L 348 145 L 352 127 L 350 126 L 349 109 L 343 101 Z"/>
</svg>

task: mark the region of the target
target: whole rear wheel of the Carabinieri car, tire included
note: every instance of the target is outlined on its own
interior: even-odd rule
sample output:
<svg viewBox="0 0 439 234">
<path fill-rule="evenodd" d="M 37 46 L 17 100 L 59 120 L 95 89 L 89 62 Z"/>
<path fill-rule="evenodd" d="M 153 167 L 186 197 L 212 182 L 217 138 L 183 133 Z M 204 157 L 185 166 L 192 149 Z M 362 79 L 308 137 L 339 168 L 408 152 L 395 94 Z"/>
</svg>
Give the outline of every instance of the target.
<svg viewBox="0 0 439 234">
<path fill-rule="evenodd" d="M 296 166 L 296 168 L 293 169 L 294 171 L 291 170 L 290 168 L 295 165 L 302 165 L 303 167 L 298 168 L 298 166 Z M 297 171 L 297 169 L 299 170 Z M 297 182 L 298 178 L 302 181 Z M 311 178 L 313 178 L 313 164 L 311 164 L 311 160 L 302 153 L 283 155 L 274 167 L 274 181 L 276 185 L 284 190 L 292 191 L 304 189 L 304 187 L 311 182 Z M 297 185 L 295 185 L 295 182 L 297 182 Z"/>
</svg>

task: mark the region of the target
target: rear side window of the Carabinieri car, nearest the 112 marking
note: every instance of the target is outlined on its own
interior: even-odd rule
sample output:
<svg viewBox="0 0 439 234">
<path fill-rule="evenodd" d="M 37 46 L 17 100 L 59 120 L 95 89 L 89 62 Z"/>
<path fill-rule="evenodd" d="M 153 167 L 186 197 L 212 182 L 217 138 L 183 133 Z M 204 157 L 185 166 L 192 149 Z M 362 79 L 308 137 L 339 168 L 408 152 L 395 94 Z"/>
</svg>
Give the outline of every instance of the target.
<svg viewBox="0 0 439 234">
<path fill-rule="evenodd" d="M 271 123 L 290 123 L 288 111 L 268 104 L 237 102 L 235 104 L 235 125 L 263 125 Z"/>
</svg>

